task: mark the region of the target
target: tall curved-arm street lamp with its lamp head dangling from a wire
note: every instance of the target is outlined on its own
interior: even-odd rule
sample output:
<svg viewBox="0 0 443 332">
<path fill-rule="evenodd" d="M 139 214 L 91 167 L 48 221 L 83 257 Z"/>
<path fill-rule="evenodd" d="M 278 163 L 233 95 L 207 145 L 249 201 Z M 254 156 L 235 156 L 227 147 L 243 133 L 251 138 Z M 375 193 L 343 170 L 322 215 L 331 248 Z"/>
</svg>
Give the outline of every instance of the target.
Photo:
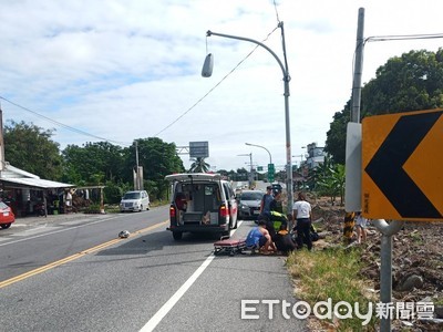
<svg viewBox="0 0 443 332">
<path fill-rule="evenodd" d="M 284 22 L 278 23 L 278 28 L 281 29 L 281 41 L 282 41 L 282 49 L 284 49 L 284 56 L 285 56 L 285 65 L 281 63 L 280 59 L 277 56 L 277 54 L 269 49 L 267 45 L 264 43 L 260 43 L 259 41 L 256 41 L 250 38 L 245 38 L 245 37 L 238 37 L 238 35 L 230 35 L 230 34 L 223 34 L 223 33 L 216 33 L 212 32 L 208 30 L 206 32 L 207 37 L 210 35 L 218 35 L 223 38 L 229 38 L 229 39 L 237 39 L 237 40 L 243 40 L 243 41 L 248 41 L 253 42 L 257 45 L 260 45 L 265 50 L 267 50 L 272 56 L 277 60 L 278 65 L 281 69 L 281 72 L 284 74 L 284 83 L 285 83 L 285 122 L 286 122 L 286 172 L 287 172 L 287 191 L 288 191 L 288 214 L 292 212 L 292 189 L 293 189 L 293 181 L 292 181 L 292 160 L 291 160 L 291 143 L 290 143 L 290 121 L 289 121 L 289 70 L 288 70 L 288 61 L 286 59 L 286 44 L 285 44 L 285 30 L 284 30 Z M 213 63 L 214 63 L 214 58 L 213 54 L 206 55 L 205 63 L 202 70 L 202 75 L 204 77 L 209 77 L 213 73 Z M 253 163 L 251 163 L 253 164 Z"/>
</svg>

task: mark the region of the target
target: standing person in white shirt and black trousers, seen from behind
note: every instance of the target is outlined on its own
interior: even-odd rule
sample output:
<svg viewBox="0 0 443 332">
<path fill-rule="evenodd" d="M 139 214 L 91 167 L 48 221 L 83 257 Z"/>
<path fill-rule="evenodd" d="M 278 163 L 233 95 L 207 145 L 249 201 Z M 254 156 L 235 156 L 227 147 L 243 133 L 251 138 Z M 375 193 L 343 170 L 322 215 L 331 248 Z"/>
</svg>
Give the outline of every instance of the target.
<svg viewBox="0 0 443 332">
<path fill-rule="evenodd" d="M 293 204 L 292 222 L 297 220 L 295 230 L 297 230 L 297 243 L 302 248 L 303 243 L 308 250 L 312 249 L 312 239 L 310 237 L 310 229 L 312 225 L 312 208 L 306 200 L 303 193 L 298 193 L 298 200 Z"/>
</svg>

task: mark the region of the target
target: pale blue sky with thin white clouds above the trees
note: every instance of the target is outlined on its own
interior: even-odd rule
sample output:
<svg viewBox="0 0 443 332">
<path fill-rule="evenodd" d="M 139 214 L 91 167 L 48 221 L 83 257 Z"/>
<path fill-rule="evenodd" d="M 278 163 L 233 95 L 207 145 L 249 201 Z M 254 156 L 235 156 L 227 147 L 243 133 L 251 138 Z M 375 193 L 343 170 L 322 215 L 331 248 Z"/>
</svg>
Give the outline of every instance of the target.
<svg viewBox="0 0 443 332">
<path fill-rule="evenodd" d="M 312 142 L 323 146 L 333 114 L 350 98 L 360 7 L 365 9 L 364 37 L 443 32 L 443 2 L 437 0 L 275 2 L 285 22 L 291 75 L 292 155 Z M 99 139 L 48 117 L 113 144 L 128 145 L 159 132 L 159 138 L 178 146 L 208 141 L 207 162 L 217 169 L 248 167 L 249 158 L 237 156 L 248 153 L 254 164 L 266 165 L 266 151 L 248 142 L 266 146 L 282 166 L 284 84 L 276 60 L 259 48 L 223 80 L 255 45 L 206 38 L 212 30 L 262 41 L 278 24 L 276 8 L 269 0 L 2 1 L 0 96 L 44 116 L 0 100 L 3 122 L 55 128 L 53 139 L 62 148 Z M 282 60 L 279 29 L 265 43 Z M 436 51 L 441 43 L 368 43 L 363 82 L 389 58 Z M 207 51 L 215 59 L 210 79 L 200 76 Z"/>
</svg>

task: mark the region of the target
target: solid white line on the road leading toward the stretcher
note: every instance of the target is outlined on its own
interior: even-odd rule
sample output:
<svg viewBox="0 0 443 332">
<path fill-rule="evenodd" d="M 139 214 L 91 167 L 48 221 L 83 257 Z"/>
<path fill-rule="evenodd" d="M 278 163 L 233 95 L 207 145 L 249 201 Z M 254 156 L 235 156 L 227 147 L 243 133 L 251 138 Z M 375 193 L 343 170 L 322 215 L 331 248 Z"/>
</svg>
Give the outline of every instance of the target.
<svg viewBox="0 0 443 332">
<path fill-rule="evenodd" d="M 240 227 L 243 221 L 238 221 L 237 229 Z M 230 236 L 235 234 L 237 230 L 231 230 Z M 174 305 L 182 299 L 182 297 L 186 293 L 186 291 L 193 286 L 193 283 L 198 279 L 198 277 L 206 270 L 206 268 L 210 264 L 213 259 L 215 258 L 214 253 L 212 253 L 206 260 L 199 266 L 199 268 L 189 277 L 188 280 L 185 281 L 184 284 L 171 297 L 169 300 L 166 301 L 165 304 L 151 318 L 151 320 L 140 330 L 140 332 L 151 332 L 158 325 L 158 323 L 165 318 L 165 315 L 174 308 Z"/>
</svg>

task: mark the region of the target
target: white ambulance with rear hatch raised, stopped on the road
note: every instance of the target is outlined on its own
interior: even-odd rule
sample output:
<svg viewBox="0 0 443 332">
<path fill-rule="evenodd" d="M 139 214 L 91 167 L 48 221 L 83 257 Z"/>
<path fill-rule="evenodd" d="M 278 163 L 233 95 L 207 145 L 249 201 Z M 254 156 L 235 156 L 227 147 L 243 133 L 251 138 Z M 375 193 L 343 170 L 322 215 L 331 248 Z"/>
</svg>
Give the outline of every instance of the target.
<svg viewBox="0 0 443 332">
<path fill-rule="evenodd" d="M 228 235 L 237 228 L 237 200 L 229 181 L 219 174 L 187 173 L 167 175 L 172 203 L 167 228 L 175 240 L 184 232 Z"/>
</svg>

